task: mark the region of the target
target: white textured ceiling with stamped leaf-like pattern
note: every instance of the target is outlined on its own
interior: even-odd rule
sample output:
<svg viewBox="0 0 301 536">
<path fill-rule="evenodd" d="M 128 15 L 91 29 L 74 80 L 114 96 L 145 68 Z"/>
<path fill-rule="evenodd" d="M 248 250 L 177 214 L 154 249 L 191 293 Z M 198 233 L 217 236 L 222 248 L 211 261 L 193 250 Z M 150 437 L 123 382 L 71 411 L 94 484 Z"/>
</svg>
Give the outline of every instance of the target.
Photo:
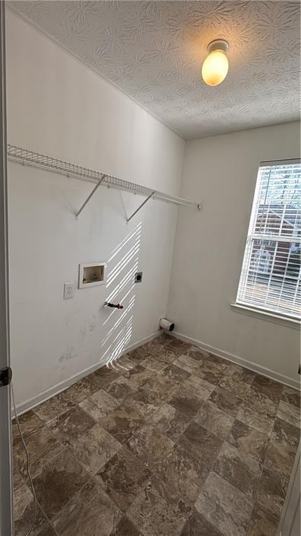
<svg viewBox="0 0 301 536">
<path fill-rule="evenodd" d="M 299 118 L 299 1 L 13 1 L 10 6 L 184 138 Z M 207 43 L 228 77 L 200 78 Z"/>
</svg>

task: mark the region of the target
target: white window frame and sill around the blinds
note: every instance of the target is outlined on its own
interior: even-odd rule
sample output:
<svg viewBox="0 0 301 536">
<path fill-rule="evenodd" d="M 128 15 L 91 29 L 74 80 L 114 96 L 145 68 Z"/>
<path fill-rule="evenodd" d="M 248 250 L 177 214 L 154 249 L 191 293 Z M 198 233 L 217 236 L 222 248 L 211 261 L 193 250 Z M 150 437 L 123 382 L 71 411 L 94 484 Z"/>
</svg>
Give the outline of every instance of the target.
<svg viewBox="0 0 301 536">
<path fill-rule="evenodd" d="M 259 316 L 259 317 L 265 317 L 265 319 L 271 319 L 271 320 L 274 319 L 274 320 L 280 320 L 280 321 L 289 322 L 289 323 L 292 322 L 293 324 L 298 324 L 299 326 L 301 325 L 301 315 L 299 316 L 298 314 L 293 314 L 290 312 L 281 312 L 279 310 L 273 309 L 272 307 L 269 307 L 269 305 L 267 304 L 260 306 L 256 303 L 252 303 L 251 301 L 247 301 L 247 300 L 244 301 L 239 298 L 239 295 L 240 295 L 240 292 L 242 292 L 242 288 L 241 288 L 243 287 L 242 280 L 244 279 L 244 277 L 248 277 L 249 273 L 251 273 L 252 271 L 251 270 L 251 253 L 248 254 L 247 252 L 248 244 L 251 242 L 251 245 L 249 247 L 252 248 L 252 243 L 254 244 L 256 240 L 258 241 L 268 240 L 268 241 L 274 242 L 275 249 L 277 249 L 279 242 L 288 241 L 285 238 L 285 235 L 273 236 L 271 234 L 265 235 L 264 233 L 256 234 L 256 232 L 254 231 L 255 229 L 254 223 L 256 222 L 258 218 L 258 207 L 256 208 L 256 204 L 258 203 L 260 187 L 262 187 L 262 185 L 260 184 L 261 181 L 259 177 L 260 168 L 263 168 L 266 166 L 272 167 L 272 166 L 300 164 L 300 163 L 301 163 L 301 158 L 260 161 L 258 163 L 256 185 L 255 185 L 254 196 L 253 196 L 252 205 L 251 205 L 251 213 L 249 215 L 249 226 L 247 230 L 247 238 L 246 238 L 244 252 L 242 256 L 242 263 L 240 266 L 240 274 L 239 274 L 239 281 L 237 284 L 236 297 L 235 297 L 235 302 L 230 304 L 231 307 L 234 307 L 237 310 L 241 310 L 242 312 L 245 312 L 247 314 L 249 312 L 252 316 L 254 316 L 255 314 L 256 316 Z M 295 236 L 291 237 L 291 242 L 295 243 Z M 298 243 L 300 244 L 300 247 L 301 247 L 301 238 L 300 238 L 300 242 Z M 249 266 L 247 269 L 247 274 L 244 274 L 244 265 L 245 265 L 246 259 L 247 259 L 247 262 L 249 263 Z M 297 284 L 298 284 L 298 280 L 297 280 Z"/>
</svg>

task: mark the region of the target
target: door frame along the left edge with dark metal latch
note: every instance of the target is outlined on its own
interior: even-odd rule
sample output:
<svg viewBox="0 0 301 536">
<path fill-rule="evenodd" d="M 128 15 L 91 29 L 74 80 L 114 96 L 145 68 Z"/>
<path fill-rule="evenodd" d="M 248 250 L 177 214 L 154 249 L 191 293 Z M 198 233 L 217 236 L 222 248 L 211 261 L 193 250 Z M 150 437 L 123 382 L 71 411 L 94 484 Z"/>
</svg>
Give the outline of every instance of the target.
<svg viewBox="0 0 301 536">
<path fill-rule="evenodd" d="M 5 2 L 0 1 L 0 369 L 9 367 Z M 0 534 L 13 535 L 10 385 L 0 386 Z"/>
</svg>

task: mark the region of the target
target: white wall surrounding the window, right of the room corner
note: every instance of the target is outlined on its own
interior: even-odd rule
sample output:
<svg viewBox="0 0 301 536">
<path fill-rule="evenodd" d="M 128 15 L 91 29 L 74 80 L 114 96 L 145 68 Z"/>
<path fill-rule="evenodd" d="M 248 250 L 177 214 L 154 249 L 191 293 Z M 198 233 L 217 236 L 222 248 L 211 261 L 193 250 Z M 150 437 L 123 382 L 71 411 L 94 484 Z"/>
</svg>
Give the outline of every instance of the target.
<svg viewBox="0 0 301 536">
<path fill-rule="evenodd" d="M 168 300 L 168 317 L 178 333 L 296 386 L 300 331 L 242 314 L 230 303 L 235 302 L 258 163 L 298 156 L 298 122 L 186 144 L 181 195 L 200 200 L 203 210 L 179 213 Z"/>
</svg>

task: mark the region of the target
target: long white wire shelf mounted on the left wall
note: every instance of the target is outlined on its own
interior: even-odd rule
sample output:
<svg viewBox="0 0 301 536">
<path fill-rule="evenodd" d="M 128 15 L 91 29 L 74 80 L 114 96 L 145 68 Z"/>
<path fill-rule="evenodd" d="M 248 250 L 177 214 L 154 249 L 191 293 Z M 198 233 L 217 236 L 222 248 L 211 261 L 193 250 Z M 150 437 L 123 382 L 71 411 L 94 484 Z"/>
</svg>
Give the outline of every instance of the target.
<svg viewBox="0 0 301 536">
<path fill-rule="evenodd" d="M 15 145 L 7 146 L 7 155 L 9 160 L 18 162 L 19 164 L 33 166 L 34 168 L 41 168 L 45 171 L 54 171 L 54 173 L 60 173 L 61 175 L 66 175 L 67 177 L 94 182 L 97 183 L 97 187 L 106 186 L 108 188 L 131 191 L 133 194 L 146 196 L 147 198 L 152 197 L 157 201 L 166 201 L 166 203 L 174 203 L 175 205 L 186 205 L 189 207 L 198 208 L 198 210 L 201 208 L 200 203 L 189 201 L 188 199 L 183 199 L 177 196 L 172 196 L 171 194 L 166 194 L 163 191 L 154 190 L 152 188 L 142 186 L 141 184 L 136 184 L 135 182 L 129 182 L 117 177 L 112 177 L 111 175 L 105 175 L 105 173 L 100 173 L 99 171 L 94 171 L 89 168 L 83 168 L 82 166 L 77 166 L 76 164 L 71 164 L 69 162 L 48 157 L 45 154 L 29 151 L 27 149 L 23 149 L 22 147 L 16 147 Z M 85 207 L 85 205 L 87 205 L 96 189 L 97 188 L 95 187 L 94 190 L 91 191 L 91 194 L 89 194 L 85 203 L 83 203 L 80 210 L 78 210 L 77 215 L 82 212 L 82 209 Z"/>
</svg>

